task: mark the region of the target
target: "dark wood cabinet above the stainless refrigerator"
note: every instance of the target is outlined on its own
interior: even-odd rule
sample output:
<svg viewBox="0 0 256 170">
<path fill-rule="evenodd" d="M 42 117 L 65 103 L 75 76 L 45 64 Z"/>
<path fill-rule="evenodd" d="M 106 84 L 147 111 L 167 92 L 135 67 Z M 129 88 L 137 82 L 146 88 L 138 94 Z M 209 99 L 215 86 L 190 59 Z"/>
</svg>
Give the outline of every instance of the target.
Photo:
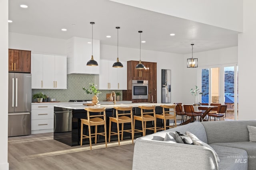
<svg viewBox="0 0 256 170">
<path fill-rule="evenodd" d="M 9 49 L 9 72 L 31 72 L 31 51 Z"/>
</svg>

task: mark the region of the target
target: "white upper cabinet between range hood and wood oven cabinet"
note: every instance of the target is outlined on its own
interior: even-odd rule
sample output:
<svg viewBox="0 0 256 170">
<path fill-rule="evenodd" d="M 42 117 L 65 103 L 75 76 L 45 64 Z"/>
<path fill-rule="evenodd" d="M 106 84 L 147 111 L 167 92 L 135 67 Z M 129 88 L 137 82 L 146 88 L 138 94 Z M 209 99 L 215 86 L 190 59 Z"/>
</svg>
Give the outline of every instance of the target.
<svg viewBox="0 0 256 170">
<path fill-rule="evenodd" d="M 95 84 L 100 90 L 127 90 L 127 62 L 124 67 L 113 68 L 114 60 L 100 60 L 100 74 L 95 76 Z"/>
</svg>

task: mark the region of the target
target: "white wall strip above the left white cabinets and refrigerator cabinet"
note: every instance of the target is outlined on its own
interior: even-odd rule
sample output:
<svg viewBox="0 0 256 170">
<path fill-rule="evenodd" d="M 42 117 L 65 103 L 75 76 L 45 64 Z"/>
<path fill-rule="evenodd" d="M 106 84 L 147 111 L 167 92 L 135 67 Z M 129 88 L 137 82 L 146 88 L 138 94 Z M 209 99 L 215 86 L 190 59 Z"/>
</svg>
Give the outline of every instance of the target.
<svg viewBox="0 0 256 170">
<path fill-rule="evenodd" d="M 66 55 L 66 40 L 9 32 L 9 48 L 32 53 Z"/>
</svg>

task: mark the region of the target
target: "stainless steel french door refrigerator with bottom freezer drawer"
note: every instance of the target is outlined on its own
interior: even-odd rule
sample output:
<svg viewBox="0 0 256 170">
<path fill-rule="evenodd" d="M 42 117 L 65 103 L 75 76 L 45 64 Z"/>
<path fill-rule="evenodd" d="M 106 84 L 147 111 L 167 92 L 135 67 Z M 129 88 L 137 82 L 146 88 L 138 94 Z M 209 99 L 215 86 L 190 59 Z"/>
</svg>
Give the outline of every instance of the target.
<svg viewBox="0 0 256 170">
<path fill-rule="evenodd" d="M 8 137 L 31 134 L 31 74 L 9 72 Z"/>
</svg>

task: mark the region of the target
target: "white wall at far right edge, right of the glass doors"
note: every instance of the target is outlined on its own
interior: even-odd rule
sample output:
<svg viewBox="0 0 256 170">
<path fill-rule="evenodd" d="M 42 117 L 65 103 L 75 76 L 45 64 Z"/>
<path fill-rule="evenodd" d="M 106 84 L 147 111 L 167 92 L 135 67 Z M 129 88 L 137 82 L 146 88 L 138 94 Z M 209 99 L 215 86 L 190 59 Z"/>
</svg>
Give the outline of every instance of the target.
<svg viewBox="0 0 256 170">
<path fill-rule="evenodd" d="M 244 33 L 238 35 L 238 110 L 239 120 L 256 119 L 256 1 L 244 0 Z"/>
</svg>

